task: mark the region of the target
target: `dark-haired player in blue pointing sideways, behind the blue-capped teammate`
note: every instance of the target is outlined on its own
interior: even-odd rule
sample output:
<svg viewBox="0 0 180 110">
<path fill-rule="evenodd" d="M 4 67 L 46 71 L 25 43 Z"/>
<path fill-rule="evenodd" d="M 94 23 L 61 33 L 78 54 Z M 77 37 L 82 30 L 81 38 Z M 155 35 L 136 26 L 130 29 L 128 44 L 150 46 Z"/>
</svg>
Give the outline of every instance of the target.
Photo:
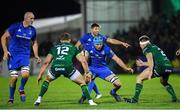
<svg viewBox="0 0 180 110">
<path fill-rule="evenodd" d="M 88 48 L 93 42 L 94 37 L 100 36 L 103 39 L 104 43 L 110 43 L 110 44 L 115 44 L 115 45 L 123 45 L 124 47 L 129 47 L 130 45 L 128 43 L 112 39 L 112 38 L 106 38 L 104 35 L 100 34 L 100 25 L 97 23 L 93 23 L 91 25 L 91 32 L 83 35 L 80 40 L 76 43 L 76 47 L 80 47 L 80 45 L 84 46 L 84 49 Z M 85 51 L 82 51 L 82 53 L 86 56 Z M 100 98 L 102 95 L 100 94 L 96 84 L 93 86 L 93 90 L 96 92 L 96 98 Z M 81 97 L 79 100 L 79 103 L 82 103 L 85 99 Z"/>
</svg>

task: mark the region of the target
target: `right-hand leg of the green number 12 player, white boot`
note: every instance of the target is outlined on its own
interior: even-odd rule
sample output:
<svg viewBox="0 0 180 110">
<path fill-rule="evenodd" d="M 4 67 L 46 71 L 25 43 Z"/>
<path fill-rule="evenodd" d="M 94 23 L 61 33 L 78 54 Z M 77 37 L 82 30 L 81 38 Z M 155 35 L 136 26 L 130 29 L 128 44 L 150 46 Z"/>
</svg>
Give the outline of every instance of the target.
<svg viewBox="0 0 180 110">
<path fill-rule="evenodd" d="M 83 76 L 80 74 L 78 70 L 74 71 L 73 75 L 70 77 L 70 79 L 75 82 L 76 84 L 81 86 L 81 90 L 84 94 L 84 96 L 89 100 L 89 105 L 97 105 L 96 103 L 93 102 L 88 87 L 86 85 L 86 82 L 83 78 Z"/>
</svg>

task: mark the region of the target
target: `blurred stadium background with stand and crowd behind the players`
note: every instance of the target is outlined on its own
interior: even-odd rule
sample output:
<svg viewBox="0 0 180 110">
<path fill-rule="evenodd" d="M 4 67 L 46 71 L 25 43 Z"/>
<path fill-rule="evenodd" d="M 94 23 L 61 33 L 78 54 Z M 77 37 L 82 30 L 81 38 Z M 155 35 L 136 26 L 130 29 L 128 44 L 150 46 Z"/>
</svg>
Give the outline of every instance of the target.
<svg viewBox="0 0 180 110">
<path fill-rule="evenodd" d="M 37 28 L 39 55 L 42 58 L 56 44 L 62 32 L 71 33 L 72 43 L 75 43 L 84 33 L 90 32 L 93 22 L 97 22 L 102 27 L 102 34 L 132 45 L 128 49 L 109 45 L 128 65 L 135 68 L 135 59 L 142 57 L 138 37 L 147 34 L 164 50 L 174 67 L 180 67 L 179 58 L 175 55 L 180 48 L 180 0 L 68 0 L 61 4 L 57 0 L 47 0 L 43 1 L 44 5 L 41 5 L 42 1 L 35 0 L 6 2 L 4 4 L 9 5 L 10 9 L 1 10 L 5 13 L 1 17 L 1 35 L 11 23 L 21 21 L 25 11 L 33 11 L 37 18 L 34 26 Z M 2 55 L 1 47 L 0 75 L 7 76 Z M 35 74 L 40 65 L 36 65 L 33 59 L 31 62 L 31 74 Z M 114 72 L 122 72 L 115 62 L 108 61 L 108 64 Z"/>
</svg>

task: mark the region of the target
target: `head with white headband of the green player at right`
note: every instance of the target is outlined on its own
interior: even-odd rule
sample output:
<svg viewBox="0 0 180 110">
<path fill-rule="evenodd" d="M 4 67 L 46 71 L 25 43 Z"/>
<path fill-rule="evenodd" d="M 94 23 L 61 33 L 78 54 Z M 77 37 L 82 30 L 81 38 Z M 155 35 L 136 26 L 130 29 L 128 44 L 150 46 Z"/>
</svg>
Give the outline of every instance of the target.
<svg viewBox="0 0 180 110">
<path fill-rule="evenodd" d="M 143 35 L 139 38 L 139 45 L 142 49 L 149 43 L 150 43 L 150 38 L 148 36 Z"/>
</svg>

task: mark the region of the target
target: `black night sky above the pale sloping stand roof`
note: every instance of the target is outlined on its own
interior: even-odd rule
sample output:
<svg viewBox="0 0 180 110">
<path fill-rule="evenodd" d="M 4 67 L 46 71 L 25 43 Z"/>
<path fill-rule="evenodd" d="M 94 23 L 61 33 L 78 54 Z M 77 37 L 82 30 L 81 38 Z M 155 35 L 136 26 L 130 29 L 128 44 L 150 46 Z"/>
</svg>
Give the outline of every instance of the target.
<svg viewBox="0 0 180 110">
<path fill-rule="evenodd" d="M 14 22 L 23 20 L 24 13 L 32 11 L 36 19 L 80 13 L 76 0 L 5 0 L 0 7 L 0 36 Z"/>
</svg>

